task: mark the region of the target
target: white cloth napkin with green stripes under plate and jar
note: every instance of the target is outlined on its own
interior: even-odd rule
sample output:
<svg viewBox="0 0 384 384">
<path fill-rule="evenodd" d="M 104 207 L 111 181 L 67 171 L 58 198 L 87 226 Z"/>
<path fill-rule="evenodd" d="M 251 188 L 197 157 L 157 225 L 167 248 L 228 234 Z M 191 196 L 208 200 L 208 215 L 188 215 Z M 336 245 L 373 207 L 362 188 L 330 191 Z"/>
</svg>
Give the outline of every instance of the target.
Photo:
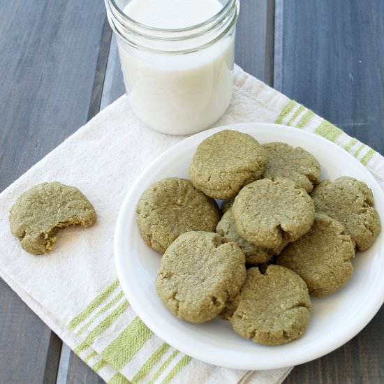
<svg viewBox="0 0 384 384">
<path fill-rule="evenodd" d="M 380 154 L 303 105 L 235 68 L 232 103 L 215 125 L 267 121 L 311 131 L 344 147 L 384 186 Z M 116 279 L 112 239 L 119 207 L 135 177 L 181 137 L 147 128 L 126 96 L 105 108 L 0 195 L 57 180 L 77 186 L 96 208 L 91 228 L 61 231 L 49 256 L 31 256 L 0 216 L 0 276 L 108 383 L 281 383 L 290 368 L 247 372 L 191 359 L 156 337 L 135 315 Z"/>
</svg>

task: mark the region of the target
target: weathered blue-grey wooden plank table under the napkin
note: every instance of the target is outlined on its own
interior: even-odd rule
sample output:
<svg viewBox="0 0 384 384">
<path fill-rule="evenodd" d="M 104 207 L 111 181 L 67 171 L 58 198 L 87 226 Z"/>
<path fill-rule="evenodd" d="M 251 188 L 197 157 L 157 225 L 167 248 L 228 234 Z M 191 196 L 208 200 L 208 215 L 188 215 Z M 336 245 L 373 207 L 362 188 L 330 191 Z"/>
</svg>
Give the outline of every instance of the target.
<svg viewBox="0 0 384 384">
<path fill-rule="evenodd" d="M 384 154 L 384 1 L 241 0 L 236 62 Z M 3 1 L 0 190 L 123 94 L 102 0 Z M 6 212 L 1 212 L 6 214 Z M 0 383 L 102 383 L 0 281 Z M 286 383 L 383 383 L 384 308 Z"/>
</svg>

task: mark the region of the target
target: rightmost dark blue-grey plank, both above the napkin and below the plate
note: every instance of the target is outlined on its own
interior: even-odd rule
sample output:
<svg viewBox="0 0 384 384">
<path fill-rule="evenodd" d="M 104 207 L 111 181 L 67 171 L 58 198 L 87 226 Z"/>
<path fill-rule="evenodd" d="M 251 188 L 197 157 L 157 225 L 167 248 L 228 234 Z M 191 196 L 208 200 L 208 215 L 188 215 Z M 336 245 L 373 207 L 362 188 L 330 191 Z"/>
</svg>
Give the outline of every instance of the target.
<svg viewBox="0 0 384 384">
<path fill-rule="evenodd" d="M 384 1 L 276 0 L 274 87 L 384 154 Z M 285 383 L 383 383 L 384 308 Z"/>
</svg>

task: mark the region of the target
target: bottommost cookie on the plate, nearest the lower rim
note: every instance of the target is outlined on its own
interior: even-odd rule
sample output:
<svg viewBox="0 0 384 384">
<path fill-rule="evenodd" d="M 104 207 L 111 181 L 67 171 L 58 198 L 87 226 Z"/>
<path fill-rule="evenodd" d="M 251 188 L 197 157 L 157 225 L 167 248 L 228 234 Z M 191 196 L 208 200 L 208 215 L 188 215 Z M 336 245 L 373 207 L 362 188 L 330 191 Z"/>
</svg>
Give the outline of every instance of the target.
<svg viewBox="0 0 384 384">
<path fill-rule="evenodd" d="M 302 278 L 290 269 L 269 265 L 265 274 L 258 267 L 247 270 L 237 309 L 229 320 L 242 337 L 276 346 L 302 337 L 310 311 Z"/>
</svg>

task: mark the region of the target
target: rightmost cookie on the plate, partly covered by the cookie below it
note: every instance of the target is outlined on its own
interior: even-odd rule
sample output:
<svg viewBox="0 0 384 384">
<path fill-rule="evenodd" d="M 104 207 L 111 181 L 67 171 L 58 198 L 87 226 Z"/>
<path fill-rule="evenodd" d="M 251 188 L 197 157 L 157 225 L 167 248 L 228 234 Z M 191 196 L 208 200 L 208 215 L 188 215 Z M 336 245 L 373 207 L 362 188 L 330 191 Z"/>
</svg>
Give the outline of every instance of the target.
<svg viewBox="0 0 384 384">
<path fill-rule="evenodd" d="M 369 248 L 380 232 L 380 218 L 367 184 L 353 177 L 325 180 L 313 189 L 316 211 L 340 221 L 361 251 Z"/>
</svg>

